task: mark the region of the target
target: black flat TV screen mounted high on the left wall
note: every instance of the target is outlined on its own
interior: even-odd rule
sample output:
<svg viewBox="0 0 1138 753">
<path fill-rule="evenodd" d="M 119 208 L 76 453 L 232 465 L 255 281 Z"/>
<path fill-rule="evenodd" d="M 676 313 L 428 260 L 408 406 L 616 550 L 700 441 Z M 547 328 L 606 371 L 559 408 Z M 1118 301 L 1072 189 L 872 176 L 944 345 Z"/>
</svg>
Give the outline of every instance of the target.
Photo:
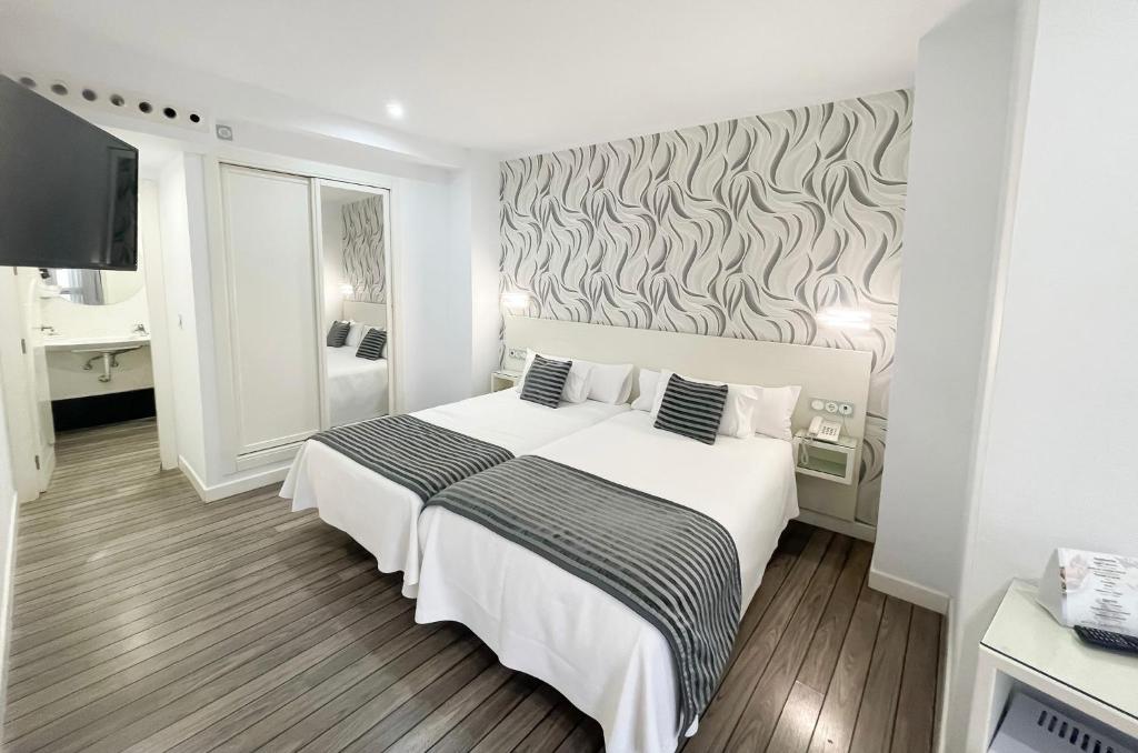
<svg viewBox="0 0 1138 753">
<path fill-rule="evenodd" d="M 0 76 L 0 266 L 138 268 L 138 154 Z"/>
</svg>

